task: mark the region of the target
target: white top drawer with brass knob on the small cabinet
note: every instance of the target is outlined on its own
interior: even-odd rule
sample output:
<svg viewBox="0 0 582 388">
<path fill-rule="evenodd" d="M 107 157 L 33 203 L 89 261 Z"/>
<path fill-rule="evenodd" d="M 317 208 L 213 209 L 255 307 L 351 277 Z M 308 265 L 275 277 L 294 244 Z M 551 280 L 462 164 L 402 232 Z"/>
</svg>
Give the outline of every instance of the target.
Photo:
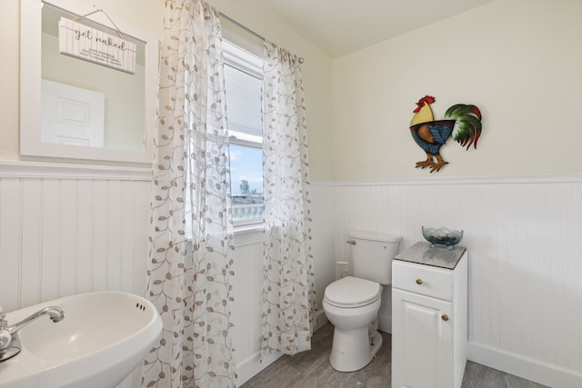
<svg viewBox="0 0 582 388">
<path fill-rule="evenodd" d="M 453 272 L 393 260 L 392 287 L 450 301 L 453 297 Z"/>
</svg>

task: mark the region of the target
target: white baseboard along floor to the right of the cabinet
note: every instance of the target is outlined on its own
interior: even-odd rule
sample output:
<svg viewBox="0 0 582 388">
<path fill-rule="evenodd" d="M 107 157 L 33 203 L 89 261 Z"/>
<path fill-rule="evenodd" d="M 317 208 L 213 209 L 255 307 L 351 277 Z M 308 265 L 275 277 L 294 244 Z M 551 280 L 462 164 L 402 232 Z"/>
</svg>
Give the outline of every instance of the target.
<svg viewBox="0 0 582 388">
<path fill-rule="evenodd" d="M 552 388 L 582 387 L 582 373 L 552 363 L 469 341 L 467 358 Z"/>
</svg>

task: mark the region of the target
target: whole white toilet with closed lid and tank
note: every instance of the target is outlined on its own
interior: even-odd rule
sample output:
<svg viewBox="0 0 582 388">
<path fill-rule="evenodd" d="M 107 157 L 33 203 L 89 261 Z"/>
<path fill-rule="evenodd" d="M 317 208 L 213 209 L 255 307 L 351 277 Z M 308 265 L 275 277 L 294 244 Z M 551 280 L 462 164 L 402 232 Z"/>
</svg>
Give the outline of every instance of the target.
<svg viewBox="0 0 582 388">
<path fill-rule="evenodd" d="M 349 232 L 352 272 L 326 287 L 323 307 L 335 326 L 329 363 L 339 372 L 365 367 L 382 346 L 377 331 L 382 286 L 392 283 L 392 258 L 401 237 Z"/>
</svg>

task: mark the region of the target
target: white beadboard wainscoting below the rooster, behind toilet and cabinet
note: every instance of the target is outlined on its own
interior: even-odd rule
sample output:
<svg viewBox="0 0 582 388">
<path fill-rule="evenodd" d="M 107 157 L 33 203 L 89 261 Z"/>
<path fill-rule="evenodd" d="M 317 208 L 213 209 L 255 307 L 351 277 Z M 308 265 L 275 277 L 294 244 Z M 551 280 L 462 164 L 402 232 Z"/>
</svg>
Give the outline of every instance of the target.
<svg viewBox="0 0 582 388">
<path fill-rule="evenodd" d="M 401 234 L 400 251 L 424 241 L 423 225 L 463 229 L 469 359 L 582 386 L 582 174 L 334 185 L 339 259 L 351 229 Z"/>
</svg>

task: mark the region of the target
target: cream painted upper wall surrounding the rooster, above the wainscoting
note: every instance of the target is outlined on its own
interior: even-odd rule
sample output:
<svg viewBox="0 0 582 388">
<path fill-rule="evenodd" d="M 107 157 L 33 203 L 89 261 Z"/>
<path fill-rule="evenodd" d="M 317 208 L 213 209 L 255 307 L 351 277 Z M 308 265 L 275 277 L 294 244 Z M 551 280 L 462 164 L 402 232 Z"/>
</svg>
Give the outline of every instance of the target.
<svg viewBox="0 0 582 388">
<path fill-rule="evenodd" d="M 336 179 L 425 177 L 416 101 L 483 114 L 477 150 L 452 139 L 438 176 L 580 171 L 582 2 L 501 0 L 334 60 Z"/>
</svg>

